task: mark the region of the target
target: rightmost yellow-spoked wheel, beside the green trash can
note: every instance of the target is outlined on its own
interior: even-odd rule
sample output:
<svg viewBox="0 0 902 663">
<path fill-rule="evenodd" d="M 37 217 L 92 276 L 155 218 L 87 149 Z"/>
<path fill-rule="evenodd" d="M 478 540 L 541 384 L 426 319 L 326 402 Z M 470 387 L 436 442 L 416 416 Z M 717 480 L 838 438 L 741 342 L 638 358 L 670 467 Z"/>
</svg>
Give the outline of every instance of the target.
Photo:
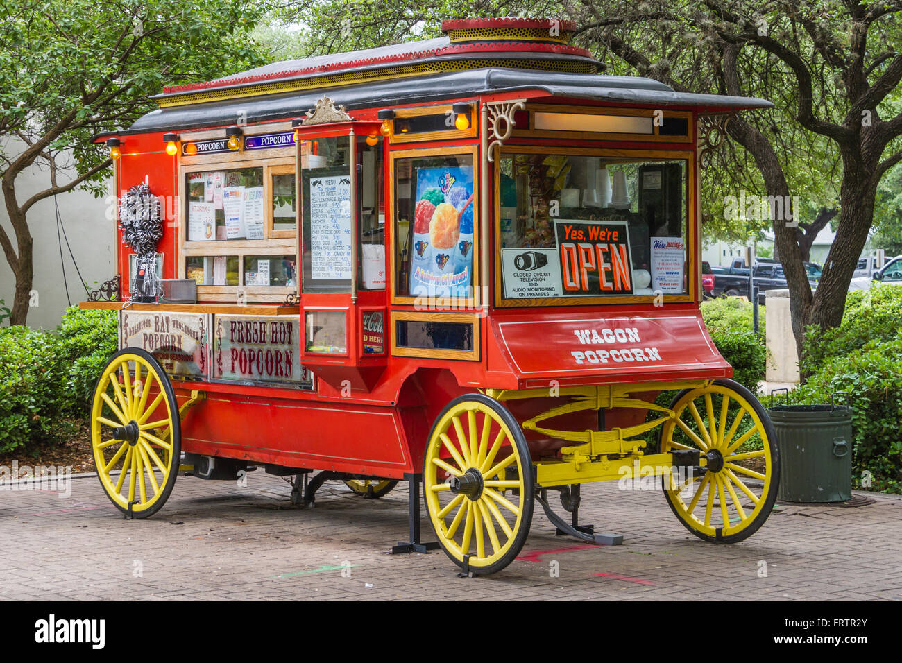
<svg viewBox="0 0 902 663">
<path fill-rule="evenodd" d="M 779 451 L 767 412 L 732 380 L 681 391 L 670 409 L 676 419 L 661 428 L 661 453 L 698 450 L 707 467 L 665 476 L 667 503 L 700 539 L 747 539 L 777 499 Z"/>
</svg>

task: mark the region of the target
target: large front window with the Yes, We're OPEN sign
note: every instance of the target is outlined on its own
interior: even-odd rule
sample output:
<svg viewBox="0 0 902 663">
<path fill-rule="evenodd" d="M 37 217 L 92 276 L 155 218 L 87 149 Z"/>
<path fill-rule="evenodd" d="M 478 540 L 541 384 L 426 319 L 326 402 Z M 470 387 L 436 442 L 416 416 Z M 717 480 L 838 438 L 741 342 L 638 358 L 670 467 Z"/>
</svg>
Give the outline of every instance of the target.
<svg viewBox="0 0 902 663">
<path fill-rule="evenodd" d="M 497 160 L 497 303 L 686 300 L 691 154 L 548 152 Z"/>
</svg>

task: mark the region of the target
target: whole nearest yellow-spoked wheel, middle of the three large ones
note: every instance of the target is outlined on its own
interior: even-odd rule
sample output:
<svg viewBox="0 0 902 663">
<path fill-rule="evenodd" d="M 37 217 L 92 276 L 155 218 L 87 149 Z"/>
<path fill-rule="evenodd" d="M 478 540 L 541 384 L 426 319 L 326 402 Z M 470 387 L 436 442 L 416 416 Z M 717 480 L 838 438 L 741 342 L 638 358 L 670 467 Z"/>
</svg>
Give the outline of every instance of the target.
<svg viewBox="0 0 902 663">
<path fill-rule="evenodd" d="M 529 448 L 520 424 L 483 394 L 459 396 L 429 435 L 423 493 L 438 542 L 474 574 L 500 571 L 523 548 L 532 520 Z"/>
</svg>

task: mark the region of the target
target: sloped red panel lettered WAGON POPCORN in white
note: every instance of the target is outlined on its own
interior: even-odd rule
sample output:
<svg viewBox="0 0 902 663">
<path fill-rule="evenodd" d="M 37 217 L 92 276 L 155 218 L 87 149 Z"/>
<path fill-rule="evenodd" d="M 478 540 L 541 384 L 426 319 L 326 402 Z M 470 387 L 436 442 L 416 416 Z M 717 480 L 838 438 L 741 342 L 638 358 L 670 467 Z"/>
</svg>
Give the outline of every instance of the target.
<svg viewBox="0 0 902 663">
<path fill-rule="evenodd" d="M 520 380 L 623 383 L 732 374 L 695 307 L 574 309 L 538 319 L 517 312 L 493 316 L 492 332 Z"/>
</svg>

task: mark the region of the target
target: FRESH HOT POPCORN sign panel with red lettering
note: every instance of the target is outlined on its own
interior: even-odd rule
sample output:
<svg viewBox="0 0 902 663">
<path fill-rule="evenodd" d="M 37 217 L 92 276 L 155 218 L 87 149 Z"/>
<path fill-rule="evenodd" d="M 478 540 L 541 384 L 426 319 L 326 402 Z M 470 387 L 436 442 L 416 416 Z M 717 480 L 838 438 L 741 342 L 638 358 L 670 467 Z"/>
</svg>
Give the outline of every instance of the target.
<svg viewBox="0 0 902 663">
<path fill-rule="evenodd" d="M 213 377 L 244 384 L 313 389 L 300 365 L 298 316 L 216 316 Z"/>
</svg>

